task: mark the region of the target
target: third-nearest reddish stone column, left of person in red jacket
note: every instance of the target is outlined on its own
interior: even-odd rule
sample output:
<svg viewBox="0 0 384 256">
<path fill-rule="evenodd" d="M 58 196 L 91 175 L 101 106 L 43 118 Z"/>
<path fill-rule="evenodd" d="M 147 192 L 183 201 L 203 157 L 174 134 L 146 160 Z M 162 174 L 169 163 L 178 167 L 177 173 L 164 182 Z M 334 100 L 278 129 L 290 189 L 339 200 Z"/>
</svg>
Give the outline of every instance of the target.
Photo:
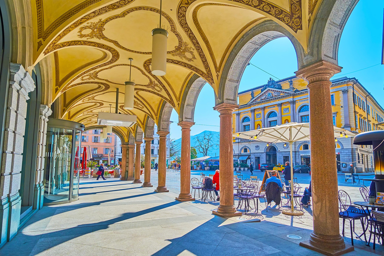
<svg viewBox="0 0 384 256">
<path fill-rule="evenodd" d="M 181 169 L 180 169 L 180 194 L 178 201 L 194 201 L 190 194 L 190 127 L 194 122 L 182 121 L 181 126 Z"/>
</svg>

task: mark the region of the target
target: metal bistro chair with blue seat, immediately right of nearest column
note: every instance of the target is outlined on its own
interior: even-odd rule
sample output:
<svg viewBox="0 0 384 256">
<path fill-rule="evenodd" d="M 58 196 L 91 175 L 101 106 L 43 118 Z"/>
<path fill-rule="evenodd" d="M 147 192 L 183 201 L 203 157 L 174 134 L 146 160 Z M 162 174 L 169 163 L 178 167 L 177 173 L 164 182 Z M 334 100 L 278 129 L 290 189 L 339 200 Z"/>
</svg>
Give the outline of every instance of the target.
<svg viewBox="0 0 384 256">
<path fill-rule="evenodd" d="M 350 240 L 351 244 L 353 245 L 354 220 L 359 219 L 361 222 L 362 230 L 365 230 L 363 218 L 367 217 L 367 212 L 364 209 L 359 208 L 357 205 L 351 205 L 352 203 L 350 201 L 350 197 L 344 190 L 338 190 L 338 201 L 338 217 L 342 218 L 342 236 L 344 236 L 345 219 L 348 219 L 350 227 Z M 366 241 L 365 232 L 364 239 Z"/>
</svg>

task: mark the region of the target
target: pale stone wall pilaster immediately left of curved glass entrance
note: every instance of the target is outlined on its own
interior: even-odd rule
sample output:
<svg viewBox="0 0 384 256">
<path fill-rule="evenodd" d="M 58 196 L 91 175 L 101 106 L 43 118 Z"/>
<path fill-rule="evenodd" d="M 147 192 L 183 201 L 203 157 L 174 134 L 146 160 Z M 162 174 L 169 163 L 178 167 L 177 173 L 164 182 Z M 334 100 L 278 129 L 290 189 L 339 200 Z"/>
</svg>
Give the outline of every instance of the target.
<svg viewBox="0 0 384 256">
<path fill-rule="evenodd" d="M 41 209 L 44 198 L 44 186 L 42 184 L 45 167 L 46 123 L 52 110 L 47 105 L 40 105 L 40 118 L 38 123 L 37 159 L 35 187 L 33 194 L 33 209 Z"/>
</svg>

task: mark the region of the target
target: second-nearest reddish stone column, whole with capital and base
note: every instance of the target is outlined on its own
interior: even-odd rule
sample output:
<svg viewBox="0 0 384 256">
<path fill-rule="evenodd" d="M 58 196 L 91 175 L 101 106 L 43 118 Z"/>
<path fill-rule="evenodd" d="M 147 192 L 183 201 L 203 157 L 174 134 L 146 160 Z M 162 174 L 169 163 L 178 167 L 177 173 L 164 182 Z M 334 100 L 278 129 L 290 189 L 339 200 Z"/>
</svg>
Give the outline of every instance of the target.
<svg viewBox="0 0 384 256">
<path fill-rule="evenodd" d="M 233 206 L 232 111 L 237 107 L 221 103 L 213 108 L 220 113 L 220 205 L 212 213 L 221 217 L 241 216 Z"/>
</svg>

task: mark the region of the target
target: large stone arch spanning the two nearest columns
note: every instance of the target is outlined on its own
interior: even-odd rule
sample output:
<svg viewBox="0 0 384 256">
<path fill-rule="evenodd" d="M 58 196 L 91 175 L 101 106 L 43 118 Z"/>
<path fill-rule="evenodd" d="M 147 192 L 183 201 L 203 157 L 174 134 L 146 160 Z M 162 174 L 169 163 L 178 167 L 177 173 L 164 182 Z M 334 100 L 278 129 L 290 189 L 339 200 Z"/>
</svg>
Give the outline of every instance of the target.
<svg viewBox="0 0 384 256">
<path fill-rule="evenodd" d="M 249 29 L 237 41 L 228 55 L 219 81 L 216 105 L 237 104 L 237 92 L 241 76 L 251 57 L 263 45 L 279 37 L 288 37 L 296 51 L 298 69 L 302 67 L 304 49 L 298 40 L 285 28 L 272 20 L 261 22 Z"/>
</svg>

